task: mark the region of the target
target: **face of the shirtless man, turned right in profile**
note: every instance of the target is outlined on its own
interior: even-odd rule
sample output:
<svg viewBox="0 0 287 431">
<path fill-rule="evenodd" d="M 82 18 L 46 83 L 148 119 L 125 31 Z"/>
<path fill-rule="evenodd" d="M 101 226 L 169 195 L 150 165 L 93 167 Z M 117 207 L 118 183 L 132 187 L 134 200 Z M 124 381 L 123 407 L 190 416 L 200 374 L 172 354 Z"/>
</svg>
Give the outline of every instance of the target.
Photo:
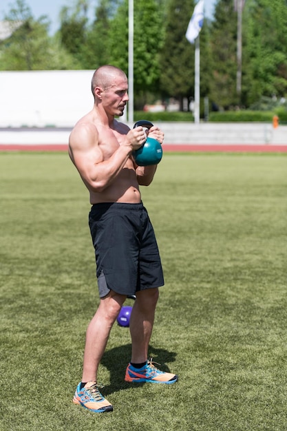
<svg viewBox="0 0 287 431">
<path fill-rule="evenodd" d="M 105 111 L 113 116 L 122 116 L 124 113 L 125 105 L 129 100 L 127 94 L 127 80 L 124 78 L 117 78 L 115 82 L 106 87 L 102 93 L 102 103 Z"/>
</svg>

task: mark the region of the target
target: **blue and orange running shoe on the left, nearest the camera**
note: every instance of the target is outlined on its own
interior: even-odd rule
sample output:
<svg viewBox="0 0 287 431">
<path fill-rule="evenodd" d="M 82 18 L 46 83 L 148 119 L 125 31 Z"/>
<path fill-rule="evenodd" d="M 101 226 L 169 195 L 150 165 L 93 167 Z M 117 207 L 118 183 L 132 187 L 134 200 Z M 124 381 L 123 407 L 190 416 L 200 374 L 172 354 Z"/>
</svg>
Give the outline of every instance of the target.
<svg viewBox="0 0 287 431">
<path fill-rule="evenodd" d="M 103 397 L 98 388 L 103 388 L 103 386 L 98 386 L 95 381 L 88 381 L 82 389 L 81 382 L 78 383 L 73 403 L 81 404 L 95 413 L 112 412 L 113 406 Z"/>
</svg>

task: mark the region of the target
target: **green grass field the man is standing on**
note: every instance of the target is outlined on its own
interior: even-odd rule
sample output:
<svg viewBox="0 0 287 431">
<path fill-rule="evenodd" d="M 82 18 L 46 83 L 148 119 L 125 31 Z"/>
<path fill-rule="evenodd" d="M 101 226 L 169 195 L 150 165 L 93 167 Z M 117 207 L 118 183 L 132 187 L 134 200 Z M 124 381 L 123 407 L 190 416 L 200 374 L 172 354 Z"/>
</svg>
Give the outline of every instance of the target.
<svg viewBox="0 0 287 431">
<path fill-rule="evenodd" d="M 1 431 L 287 430 L 287 157 L 164 154 L 142 198 L 164 266 L 150 354 L 175 385 L 129 385 L 129 330 L 72 404 L 98 304 L 88 194 L 66 154 L 0 153 Z"/>
</svg>

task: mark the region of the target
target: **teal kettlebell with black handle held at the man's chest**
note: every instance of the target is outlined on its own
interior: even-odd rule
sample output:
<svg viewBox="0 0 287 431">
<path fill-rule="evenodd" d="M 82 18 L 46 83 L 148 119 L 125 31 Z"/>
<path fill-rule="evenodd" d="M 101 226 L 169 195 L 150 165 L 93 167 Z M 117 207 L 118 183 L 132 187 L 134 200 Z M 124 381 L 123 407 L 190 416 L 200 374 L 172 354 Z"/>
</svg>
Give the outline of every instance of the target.
<svg viewBox="0 0 287 431">
<path fill-rule="evenodd" d="M 153 127 L 153 123 L 147 120 L 139 120 L 135 123 L 134 129 L 138 126 L 150 129 Z M 133 156 L 138 166 L 158 165 L 162 160 L 162 146 L 158 140 L 147 136 L 145 143 L 139 149 L 133 151 Z"/>
</svg>

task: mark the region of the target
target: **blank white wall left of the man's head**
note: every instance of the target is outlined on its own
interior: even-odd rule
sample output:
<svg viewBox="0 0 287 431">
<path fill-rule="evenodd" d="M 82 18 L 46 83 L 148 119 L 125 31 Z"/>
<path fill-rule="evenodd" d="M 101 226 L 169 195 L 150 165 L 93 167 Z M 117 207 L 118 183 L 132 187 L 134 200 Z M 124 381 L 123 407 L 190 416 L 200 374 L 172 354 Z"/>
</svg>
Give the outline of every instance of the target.
<svg viewBox="0 0 287 431">
<path fill-rule="evenodd" d="M 72 127 L 94 105 L 93 70 L 0 72 L 0 127 Z"/>
</svg>

